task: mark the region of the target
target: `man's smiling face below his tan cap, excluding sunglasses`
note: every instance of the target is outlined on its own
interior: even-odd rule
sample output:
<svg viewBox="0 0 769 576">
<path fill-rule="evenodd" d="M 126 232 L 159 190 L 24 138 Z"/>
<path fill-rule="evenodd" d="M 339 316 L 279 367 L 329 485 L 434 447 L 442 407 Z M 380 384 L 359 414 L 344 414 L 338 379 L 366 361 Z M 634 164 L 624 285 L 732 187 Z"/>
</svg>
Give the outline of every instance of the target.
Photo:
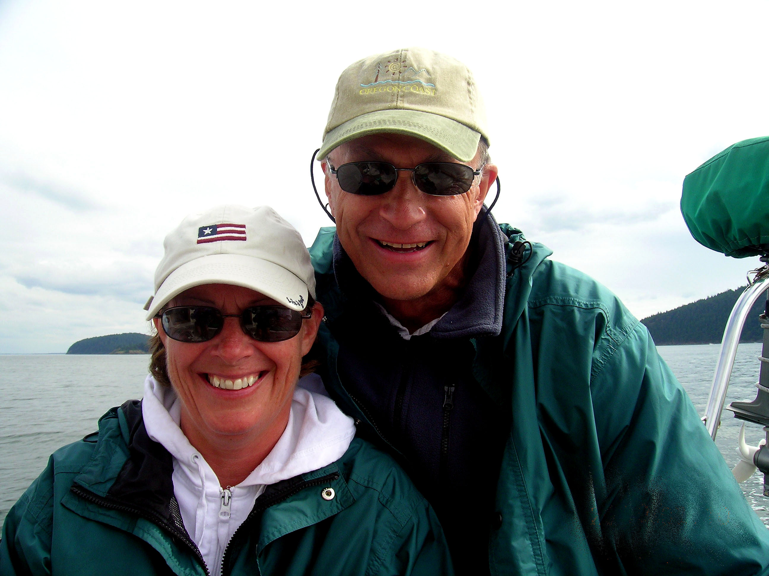
<svg viewBox="0 0 769 576">
<path fill-rule="evenodd" d="M 334 167 L 384 161 L 396 168 L 423 162 L 458 162 L 418 138 L 371 134 L 341 144 L 329 154 Z M 478 169 L 479 159 L 467 163 Z M 414 187 L 411 173 L 398 172 L 394 188 L 378 196 L 341 190 L 326 170 L 326 195 L 337 234 L 355 268 L 388 300 L 417 300 L 460 282 L 473 223 L 496 178 L 489 164 L 468 192 L 430 196 Z"/>
</svg>

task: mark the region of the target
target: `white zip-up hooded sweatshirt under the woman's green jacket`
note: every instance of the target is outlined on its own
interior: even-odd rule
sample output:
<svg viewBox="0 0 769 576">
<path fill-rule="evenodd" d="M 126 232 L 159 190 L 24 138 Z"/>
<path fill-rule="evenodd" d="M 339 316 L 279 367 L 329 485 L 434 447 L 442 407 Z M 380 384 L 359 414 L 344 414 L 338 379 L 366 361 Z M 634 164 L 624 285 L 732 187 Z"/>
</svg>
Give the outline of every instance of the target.
<svg viewBox="0 0 769 576">
<path fill-rule="evenodd" d="M 266 486 L 323 468 L 348 449 L 355 436 L 353 420 L 319 390 L 325 392 L 319 376 L 300 379 L 278 443 L 243 482 L 221 488 L 211 466 L 179 428 L 181 402 L 176 392 L 151 376 L 145 380 L 141 413 L 147 433 L 171 452 L 181 518 L 211 574 L 221 574 L 230 538 Z"/>
</svg>

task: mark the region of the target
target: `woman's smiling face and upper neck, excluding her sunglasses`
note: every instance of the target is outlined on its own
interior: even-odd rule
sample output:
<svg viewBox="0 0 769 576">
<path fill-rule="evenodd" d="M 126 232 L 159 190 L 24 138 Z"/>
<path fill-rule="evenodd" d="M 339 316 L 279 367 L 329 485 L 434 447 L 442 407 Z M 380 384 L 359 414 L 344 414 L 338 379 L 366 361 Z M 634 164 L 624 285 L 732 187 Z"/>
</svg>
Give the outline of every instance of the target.
<svg viewBox="0 0 769 576">
<path fill-rule="evenodd" d="M 249 306 L 275 305 L 264 294 L 228 284 L 195 286 L 171 300 L 170 306 L 213 306 L 223 314 L 239 314 Z M 301 358 L 309 352 L 323 316 L 315 305 L 301 331 L 283 342 L 259 342 L 247 336 L 240 319 L 225 318 L 221 332 L 208 342 L 183 343 L 168 338 L 160 320 L 155 328 L 165 346 L 168 378 L 181 400 L 181 430 L 197 449 L 223 437 L 237 442 L 277 439 L 288 422 L 291 397 Z M 241 380 L 239 390 L 215 387 L 218 379 Z M 244 382 L 253 382 L 247 386 Z"/>
</svg>

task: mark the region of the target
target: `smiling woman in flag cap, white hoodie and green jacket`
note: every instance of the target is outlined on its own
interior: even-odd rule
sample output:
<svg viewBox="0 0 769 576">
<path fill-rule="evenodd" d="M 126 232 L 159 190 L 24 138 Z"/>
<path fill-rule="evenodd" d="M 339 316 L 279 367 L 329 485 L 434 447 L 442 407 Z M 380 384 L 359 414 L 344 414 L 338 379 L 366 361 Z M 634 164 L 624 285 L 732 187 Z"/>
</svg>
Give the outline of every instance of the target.
<svg viewBox="0 0 769 576">
<path fill-rule="evenodd" d="M 52 455 L 8 513 L 0 574 L 450 573 L 401 468 L 296 386 L 314 293 L 301 237 L 271 208 L 183 220 L 145 306 L 144 399 Z"/>
</svg>

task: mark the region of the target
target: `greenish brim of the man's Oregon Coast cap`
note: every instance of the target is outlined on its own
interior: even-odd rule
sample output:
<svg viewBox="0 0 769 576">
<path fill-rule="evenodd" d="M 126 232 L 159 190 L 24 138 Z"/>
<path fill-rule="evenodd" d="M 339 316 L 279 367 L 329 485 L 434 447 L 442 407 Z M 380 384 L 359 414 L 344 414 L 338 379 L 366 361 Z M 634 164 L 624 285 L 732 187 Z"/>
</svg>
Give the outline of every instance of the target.
<svg viewBox="0 0 769 576">
<path fill-rule="evenodd" d="M 324 160 L 339 144 L 381 133 L 418 137 L 461 162 L 469 162 L 475 157 L 481 140 L 479 132 L 445 116 L 418 110 L 380 110 L 353 118 L 328 132 L 318 152 L 318 160 Z"/>
</svg>

